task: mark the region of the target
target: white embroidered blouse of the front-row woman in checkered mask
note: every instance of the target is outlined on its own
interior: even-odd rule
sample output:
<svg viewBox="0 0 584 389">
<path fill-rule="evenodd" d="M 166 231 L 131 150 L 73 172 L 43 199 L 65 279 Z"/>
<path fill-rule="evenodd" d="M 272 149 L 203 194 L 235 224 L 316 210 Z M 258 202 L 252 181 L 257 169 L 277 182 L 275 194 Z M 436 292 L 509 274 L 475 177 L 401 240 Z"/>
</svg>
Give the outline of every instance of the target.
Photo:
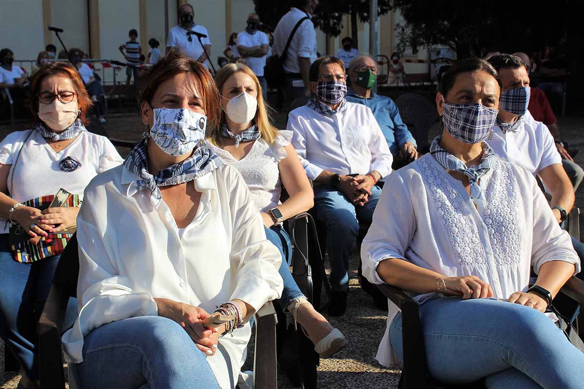
<svg viewBox="0 0 584 389">
<path fill-rule="evenodd" d="M 479 183 L 488 202 L 479 212 L 461 181 L 430 154 L 390 174 L 363 240 L 363 275 L 383 283 L 380 261 L 398 258 L 447 277 L 474 275 L 507 299 L 529 285 L 548 261 L 566 261 L 580 271 L 570 236 L 556 222 L 533 175 L 498 160 Z M 423 303 L 434 293 L 414 296 Z M 389 329 L 398 312 L 389 302 L 387 329 L 377 352 L 385 366 L 397 362 Z"/>
</svg>

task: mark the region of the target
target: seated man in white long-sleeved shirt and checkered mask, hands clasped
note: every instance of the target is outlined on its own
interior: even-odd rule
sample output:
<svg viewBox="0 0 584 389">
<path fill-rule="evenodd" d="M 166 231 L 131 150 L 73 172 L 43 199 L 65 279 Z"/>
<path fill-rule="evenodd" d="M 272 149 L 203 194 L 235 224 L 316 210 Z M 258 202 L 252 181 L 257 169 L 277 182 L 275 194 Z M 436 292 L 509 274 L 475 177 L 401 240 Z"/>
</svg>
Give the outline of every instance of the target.
<svg viewBox="0 0 584 389">
<path fill-rule="evenodd" d="M 345 64 L 321 57 L 310 66 L 312 97 L 288 115 L 292 145 L 314 182 L 317 219 L 326 224 L 331 258 L 329 314 L 346 310 L 349 255 L 359 221 L 370 223 L 381 194 L 377 181 L 391 173 L 393 157 L 383 132 L 363 104 L 349 103 Z M 387 300 L 384 301 L 387 307 Z"/>
</svg>

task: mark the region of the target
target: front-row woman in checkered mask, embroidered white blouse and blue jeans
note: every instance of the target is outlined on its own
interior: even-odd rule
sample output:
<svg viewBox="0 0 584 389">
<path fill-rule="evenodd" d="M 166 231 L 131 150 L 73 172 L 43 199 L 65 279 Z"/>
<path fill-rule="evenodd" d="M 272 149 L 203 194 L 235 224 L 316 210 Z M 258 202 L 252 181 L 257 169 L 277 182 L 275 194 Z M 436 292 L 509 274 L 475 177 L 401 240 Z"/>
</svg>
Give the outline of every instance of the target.
<svg viewBox="0 0 584 389">
<path fill-rule="evenodd" d="M 581 388 L 584 353 L 544 314 L 580 263 L 533 175 L 484 142 L 501 87 L 482 59 L 444 74 L 436 95 L 443 134 L 429 154 L 387 179 L 361 248 L 363 274 L 420 304 L 436 379 Z M 538 276 L 529 288 L 531 267 Z M 387 323 L 377 353 L 386 366 L 403 355 L 397 307 Z"/>
</svg>

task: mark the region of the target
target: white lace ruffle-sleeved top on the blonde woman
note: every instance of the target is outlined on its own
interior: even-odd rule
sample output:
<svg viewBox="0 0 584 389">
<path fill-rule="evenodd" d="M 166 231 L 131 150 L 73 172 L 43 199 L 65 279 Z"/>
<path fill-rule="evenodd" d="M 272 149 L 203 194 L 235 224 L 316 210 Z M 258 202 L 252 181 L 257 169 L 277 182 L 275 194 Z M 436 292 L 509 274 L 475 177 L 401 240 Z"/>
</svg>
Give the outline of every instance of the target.
<svg viewBox="0 0 584 389">
<path fill-rule="evenodd" d="M 207 146 L 226 163 L 239 170 L 256 206 L 260 212 L 265 212 L 280 204 L 281 183 L 278 164 L 287 156 L 284 147 L 290 144 L 292 134 L 292 131 L 280 131 L 271 146 L 263 138 L 259 138 L 241 160 L 235 159 L 230 152 L 211 143 L 207 143 Z"/>
</svg>

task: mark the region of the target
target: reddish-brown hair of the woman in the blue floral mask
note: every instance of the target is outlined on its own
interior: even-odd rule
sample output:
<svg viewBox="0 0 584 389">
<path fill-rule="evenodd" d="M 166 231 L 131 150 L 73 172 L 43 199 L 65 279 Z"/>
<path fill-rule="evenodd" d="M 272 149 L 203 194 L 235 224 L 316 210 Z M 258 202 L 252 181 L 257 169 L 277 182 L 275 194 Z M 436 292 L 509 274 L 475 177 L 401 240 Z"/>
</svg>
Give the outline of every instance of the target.
<svg viewBox="0 0 584 389">
<path fill-rule="evenodd" d="M 152 106 L 152 98 L 158 86 L 180 73 L 193 75 L 194 86 L 203 100 L 203 109 L 207 116 L 207 129 L 214 127 L 221 112 L 221 101 L 213 76 L 201 62 L 190 59 L 177 49 L 169 51 L 164 58 L 152 66 L 150 74 L 148 74 L 144 86 L 138 94 L 138 103 L 142 104 L 146 101 Z"/>
</svg>

